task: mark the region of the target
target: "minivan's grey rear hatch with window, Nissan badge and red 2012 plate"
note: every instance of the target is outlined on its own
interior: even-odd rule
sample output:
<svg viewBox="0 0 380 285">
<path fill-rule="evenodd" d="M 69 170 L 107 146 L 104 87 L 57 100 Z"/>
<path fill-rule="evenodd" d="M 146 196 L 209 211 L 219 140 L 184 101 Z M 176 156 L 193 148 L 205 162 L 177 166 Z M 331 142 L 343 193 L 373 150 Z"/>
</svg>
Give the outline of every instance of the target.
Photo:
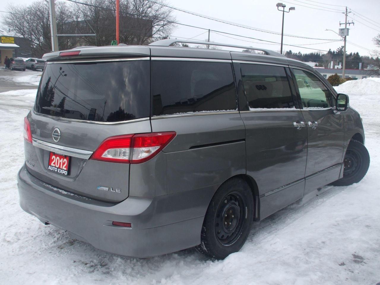
<svg viewBox="0 0 380 285">
<path fill-rule="evenodd" d="M 27 116 L 33 141 L 25 142 L 28 171 L 79 195 L 127 198 L 130 165 L 89 158 L 106 138 L 151 132 L 146 59 L 47 63 Z M 51 166 L 53 159 L 60 159 L 59 167 Z"/>
</svg>

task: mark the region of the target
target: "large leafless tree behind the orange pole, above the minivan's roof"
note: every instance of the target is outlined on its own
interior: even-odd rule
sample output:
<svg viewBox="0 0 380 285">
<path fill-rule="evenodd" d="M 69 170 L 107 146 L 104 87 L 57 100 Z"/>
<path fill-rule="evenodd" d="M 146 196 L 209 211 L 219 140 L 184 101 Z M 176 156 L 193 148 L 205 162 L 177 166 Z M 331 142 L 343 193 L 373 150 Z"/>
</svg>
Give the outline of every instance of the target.
<svg viewBox="0 0 380 285">
<path fill-rule="evenodd" d="M 98 46 L 110 44 L 116 39 L 115 1 L 81 2 L 87 5 L 76 4 L 80 14 L 78 31 L 95 32 Z M 120 43 L 149 44 L 167 38 L 175 27 L 175 18 L 171 14 L 172 9 L 146 0 L 120 0 Z M 95 45 L 94 37 L 83 40 L 85 44 Z"/>
</svg>

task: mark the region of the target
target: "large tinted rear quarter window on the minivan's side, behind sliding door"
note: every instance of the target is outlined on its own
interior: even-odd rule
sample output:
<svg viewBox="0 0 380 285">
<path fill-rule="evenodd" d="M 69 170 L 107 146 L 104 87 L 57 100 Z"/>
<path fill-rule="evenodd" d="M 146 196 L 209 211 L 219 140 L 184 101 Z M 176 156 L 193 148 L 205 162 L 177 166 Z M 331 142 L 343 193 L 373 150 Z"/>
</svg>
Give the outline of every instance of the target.
<svg viewBox="0 0 380 285">
<path fill-rule="evenodd" d="M 152 61 L 153 116 L 236 110 L 230 63 Z"/>
</svg>

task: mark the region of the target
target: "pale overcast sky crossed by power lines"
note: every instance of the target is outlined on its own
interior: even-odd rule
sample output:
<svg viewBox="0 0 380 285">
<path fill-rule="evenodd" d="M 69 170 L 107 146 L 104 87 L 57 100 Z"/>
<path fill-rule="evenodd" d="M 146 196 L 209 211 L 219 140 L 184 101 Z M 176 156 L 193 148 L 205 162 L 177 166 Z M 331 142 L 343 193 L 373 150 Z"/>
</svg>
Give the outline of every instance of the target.
<svg viewBox="0 0 380 285">
<path fill-rule="evenodd" d="M 80 0 L 78 1 L 80 2 Z M 2 3 L 5 4 L 19 3 L 22 5 L 28 5 L 32 2 L 33 1 L 31 0 L 2 0 Z M 253 28 L 281 33 L 282 12 L 277 11 L 276 3 L 278 2 L 278 0 L 167 0 L 166 3 L 168 5 L 198 14 L 215 17 L 229 22 L 244 24 Z M 372 42 L 372 38 L 380 34 L 379 0 L 290 0 L 290 2 L 282 1 L 282 3 L 286 4 L 287 8 L 296 8 L 295 11 L 285 13 L 284 34 L 321 39 L 310 40 L 305 38 L 284 36 L 284 44 L 297 46 L 302 45 L 303 47 L 316 49 L 312 50 L 284 45 L 283 49 L 285 51 L 291 49 L 293 52 L 300 51 L 302 53 L 317 50 L 325 52 L 329 48 L 336 50 L 339 46 L 342 46 L 343 41 L 326 43 L 331 40 L 340 40 L 340 37 L 331 31 L 325 30 L 331 29 L 334 30 L 334 32 L 338 32 L 339 21 L 344 22 L 344 14 L 340 13 L 340 11 L 344 12 L 345 7 L 332 5 L 347 5 L 348 11 L 351 11 L 351 13 L 348 14 L 348 20 L 350 22 L 355 22 L 355 25 L 350 26 L 350 35 L 347 37 L 348 54 L 350 52 L 359 52 L 360 55 L 369 55 L 369 50 L 376 48 Z M 2 5 L 2 7 L 4 6 Z M 313 7 L 314 9 L 309 7 Z M 280 43 L 281 41 L 281 35 L 236 27 L 233 25 L 204 19 L 198 16 L 193 16 L 177 10 L 173 10 L 173 15 L 176 17 L 177 22 L 182 24 L 194 25 L 206 29 L 277 43 Z M 203 34 L 199 35 L 201 33 Z M 194 38 L 196 40 L 206 40 L 207 31 L 199 28 L 177 25 L 176 29 L 172 33 L 172 36 L 177 38 L 182 37 Z M 210 40 L 215 42 L 273 49 L 275 51 L 280 50 L 279 44 L 268 44 L 259 40 L 241 38 L 233 35 L 222 35 L 215 32 L 211 32 Z M 357 46 L 355 46 L 355 44 Z"/>
</svg>

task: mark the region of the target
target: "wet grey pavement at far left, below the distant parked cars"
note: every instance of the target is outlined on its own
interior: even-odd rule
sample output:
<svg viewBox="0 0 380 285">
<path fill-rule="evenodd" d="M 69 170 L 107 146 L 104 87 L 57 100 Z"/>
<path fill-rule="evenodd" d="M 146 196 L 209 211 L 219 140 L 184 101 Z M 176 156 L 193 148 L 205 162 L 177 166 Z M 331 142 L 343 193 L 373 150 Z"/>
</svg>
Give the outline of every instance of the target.
<svg viewBox="0 0 380 285">
<path fill-rule="evenodd" d="M 32 70 L 10 70 L 0 67 L 0 92 L 20 89 L 36 89 L 36 85 L 29 82 L 16 82 L 17 77 L 27 77 L 30 75 L 41 74 L 41 71 Z"/>
</svg>

